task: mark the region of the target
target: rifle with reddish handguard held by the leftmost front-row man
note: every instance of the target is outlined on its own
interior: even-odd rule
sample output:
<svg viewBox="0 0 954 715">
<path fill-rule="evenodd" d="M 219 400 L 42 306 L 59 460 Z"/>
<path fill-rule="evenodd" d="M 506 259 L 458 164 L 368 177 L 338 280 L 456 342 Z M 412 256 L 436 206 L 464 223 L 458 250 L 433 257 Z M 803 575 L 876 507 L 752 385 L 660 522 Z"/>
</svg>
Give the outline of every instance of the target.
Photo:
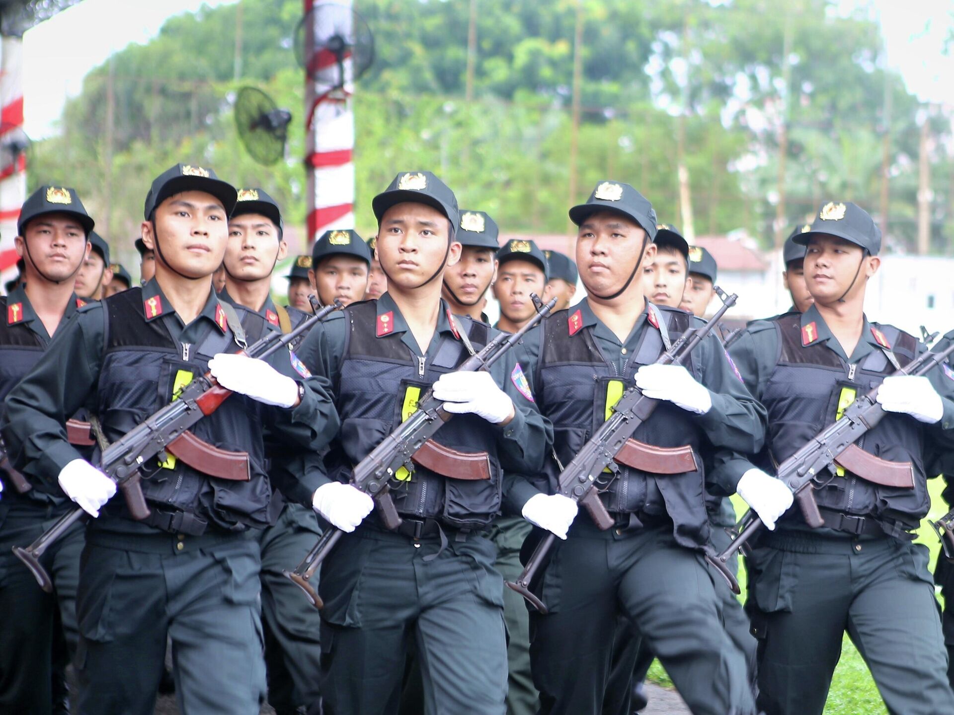
<svg viewBox="0 0 954 715">
<path fill-rule="evenodd" d="M 249 358 L 267 358 L 280 348 L 287 345 L 309 330 L 321 318 L 342 308 L 339 301 L 326 306 L 314 316 L 309 316 L 301 322 L 291 333 L 276 333 L 269 331 L 268 335 L 244 348 L 239 355 Z M 136 520 L 146 519 L 149 506 L 142 494 L 139 483 L 139 469 L 158 456 L 160 460 L 167 460 L 168 452 L 176 452 L 176 440 L 192 427 L 199 419 L 211 415 L 218 406 L 232 394 L 220 386 L 211 373 L 192 380 L 178 393 L 178 398 L 155 414 L 144 419 L 121 438 L 116 439 L 102 451 L 100 469 L 122 491 L 130 513 Z M 188 441 L 188 438 L 186 438 Z M 64 514 L 47 531 L 37 537 L 29 546 L 14 546 L 13 553 L 27 565 L 36 579 L 47 593 L 52 592 L 52 582 L 46 570 L 40 565 L 40 557 L 59 539 L 75 521 L 78 521 L 86 512 L 81 508 Z"/>
</svg>

